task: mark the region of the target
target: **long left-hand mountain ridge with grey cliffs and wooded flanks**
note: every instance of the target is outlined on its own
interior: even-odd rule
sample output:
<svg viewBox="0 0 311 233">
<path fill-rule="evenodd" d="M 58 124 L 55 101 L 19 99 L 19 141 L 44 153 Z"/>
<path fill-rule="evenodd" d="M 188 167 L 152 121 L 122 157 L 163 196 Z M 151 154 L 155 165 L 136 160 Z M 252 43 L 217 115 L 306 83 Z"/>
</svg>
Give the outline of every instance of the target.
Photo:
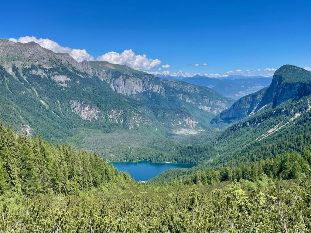
<svg viewBox="0 0 311 233">
<path fill-rule="evenodd" d="M 62 127 L 75 125 L 79 116 L 87 121 L 86 127 L 100 130 L 113 126 L 166 134 L 181 127 L 198 132 L 233 102 L 207 87 L 162 80 L 128 66 L 77 62 L 35 42 L 0 39 L 0 51 L 0 69 L 11 79 L 4 80 L 2 93 L 12 84 L 14 95 L 29 100 L 32 109 L 44 106 L 43 117 L 50 117 L 55 125 L 61 117 Z M 30 126 L 35 133 L 36 126 Z"/>
</svg>

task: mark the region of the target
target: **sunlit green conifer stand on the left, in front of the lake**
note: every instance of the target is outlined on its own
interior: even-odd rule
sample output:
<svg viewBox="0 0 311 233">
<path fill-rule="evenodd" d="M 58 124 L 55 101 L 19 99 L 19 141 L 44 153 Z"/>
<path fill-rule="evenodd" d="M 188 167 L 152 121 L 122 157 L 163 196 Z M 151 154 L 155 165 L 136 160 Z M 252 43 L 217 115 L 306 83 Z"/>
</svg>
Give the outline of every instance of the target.
<svg viewBox="0 0 311 233">
<path fill-rule="evenodd" d="M 0 122 L 0 194 L 78 194 L 117 182 L 134 183 L 95 153 L 53 146 L 26 132 L 16 136 Z"/>
</svg>

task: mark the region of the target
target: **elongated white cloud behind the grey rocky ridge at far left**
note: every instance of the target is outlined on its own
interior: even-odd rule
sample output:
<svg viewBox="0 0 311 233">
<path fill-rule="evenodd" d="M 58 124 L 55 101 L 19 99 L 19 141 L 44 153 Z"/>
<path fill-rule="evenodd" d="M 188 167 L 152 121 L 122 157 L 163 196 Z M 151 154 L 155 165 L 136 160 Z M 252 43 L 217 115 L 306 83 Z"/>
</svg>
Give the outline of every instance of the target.
<svg viewBox="0 0 311 233">
<path fill-rule="evenodd" d="M 50 39 L 37 39 L 35 36 L 25 36 L 20 37 L 19 39 L 10 38 L 9 40 L 13 42 L 20 42 L 20 43 L 28 43 L 34 41 L 38 43 L 43 48 L 47 48 L 52 50 L 54 53 L 69 53 L 71 57 L 77 60 L 77 62 L 82 62 L 84 60 L 93 61 L 94 57 L 91 56 L 86 52 L 85 49 L 72 49 L 68 47 L 60 46 L 57 42 L 50 40 Z"/>
</svg>

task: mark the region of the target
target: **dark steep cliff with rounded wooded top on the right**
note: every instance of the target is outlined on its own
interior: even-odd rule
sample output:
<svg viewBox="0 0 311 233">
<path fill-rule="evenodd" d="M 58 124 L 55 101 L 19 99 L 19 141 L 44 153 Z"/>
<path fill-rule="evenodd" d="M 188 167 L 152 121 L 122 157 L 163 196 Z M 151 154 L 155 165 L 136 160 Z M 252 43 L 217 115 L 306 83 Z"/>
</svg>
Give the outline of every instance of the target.
<svg viewBox="0 0 311 233">
<path fill-rule="evenodd" d="M 270 105 L 272 108 L 292 99 L 298 100 L 311 94 L 311 72 L 303 68 L 284 65 L 273 75 L 269 87 L 242 97 L 229 109 L 221 112 L 212 124 L 234 123 Z"/>
</svg>

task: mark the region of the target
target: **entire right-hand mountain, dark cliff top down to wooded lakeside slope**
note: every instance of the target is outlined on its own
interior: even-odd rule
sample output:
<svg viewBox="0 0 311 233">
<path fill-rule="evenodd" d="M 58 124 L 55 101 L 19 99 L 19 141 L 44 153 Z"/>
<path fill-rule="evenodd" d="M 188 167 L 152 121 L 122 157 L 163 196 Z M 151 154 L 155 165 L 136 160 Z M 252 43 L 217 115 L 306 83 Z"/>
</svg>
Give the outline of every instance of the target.
<svg viewBox="0 0 311 233">
<path fill-rule="evenodd" d="M 214 175 L 219 175 L 218 172 L 222 174 L 220 177 L 223 176 L 220 180 L 231 179 L 233 181 L 234 177 L 239 177 L 237 174 L 234 175 L 234 172 L 241 171 L 239 169 L 243 169 L 242 167 L 248 167 L 259 174 L 262 171 L 258 171 L 255 167 L 250 168 L 251 164 L 260 166 L 258 164 L 277 160 L 283 165 L 264 167 L 264 172 L 266 174 L 283 172 L 282 177 L 285 179 L 294 177 L 287 173 L 290 171 L 285 172 L 286 166 L 295 164 L 294 160 L 292 162 L 281 161 L 287 156 L 295 158 L 294 155 L 289 155 L 290 153 L 300 155 L 310 153 L 310 84 L 310 71 L 293 65 L 281 66 L 273 75 L 269 87 L 239 99 L 229 109 L 211 120 L 213 126 L 225 130 L 203 143 L 199 142 L 201 146 L 210 148 L 209 157 L 205 161 L 191 169 L 165 171 L 149 182 L 187 179 L 197 182 L 195 179 L 200 180 L 201 178 L 198 177 L 204 178 L 205 176 L 213 180 Z M 193 140 L 192 145 L 195 144 Z M 309 165 L 307 170 L 309 170 Z M 201 176 L 202 171 L 206 172 L 203 176 Z M 245 172 L 247 174 L 248 171 Z M 242 176 L 247 177 L 245 174 L 242 173 Z M 251 180 L 251 178 L 247 179 Z"/>
</svg>

